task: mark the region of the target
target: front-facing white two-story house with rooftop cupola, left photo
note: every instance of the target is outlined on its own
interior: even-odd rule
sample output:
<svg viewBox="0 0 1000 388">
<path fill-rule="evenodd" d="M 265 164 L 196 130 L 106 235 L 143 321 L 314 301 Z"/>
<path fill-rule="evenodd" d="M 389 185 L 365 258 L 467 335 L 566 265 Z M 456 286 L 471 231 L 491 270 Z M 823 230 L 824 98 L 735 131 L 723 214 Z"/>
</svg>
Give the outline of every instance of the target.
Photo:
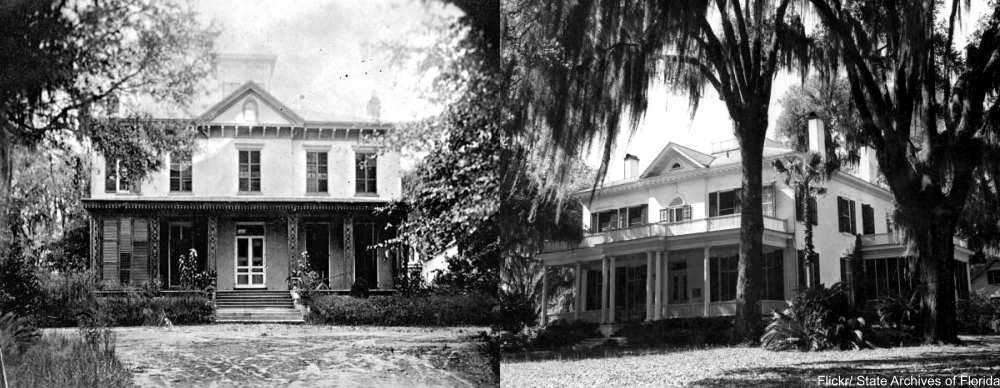
<svg viewBox="0 0 1000 388">
<path fill-rule="evenodd" d="M 194 248 L 220 291 L 288 290 L 303 251 L 331 289 L 358 279 L 391 289 L 401 260 L 372 247 L 398 224 L 376 209 L 400 197 L 400 157 L 372 139 L 392 126 L 300 116 L 265 89 L 275 57 L 220 58 L 224 97 L 183 117 L 201 123 L 190 158 L 168 156 L 165 168 L 128 182 L 118 161 L 93 154 L 83 202 L 105 288 L 152 279 L 176 288 L 179 258 Z"/>
</svg>

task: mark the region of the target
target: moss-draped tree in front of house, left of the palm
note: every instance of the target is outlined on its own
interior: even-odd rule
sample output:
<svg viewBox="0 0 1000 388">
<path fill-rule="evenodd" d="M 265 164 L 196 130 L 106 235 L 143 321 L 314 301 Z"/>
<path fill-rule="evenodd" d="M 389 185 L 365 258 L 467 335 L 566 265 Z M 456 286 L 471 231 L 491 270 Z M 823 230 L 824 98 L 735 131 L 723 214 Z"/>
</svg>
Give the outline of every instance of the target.
<svg viewBox="0 0 1000 388">
<path fill-rule="evenodd" d="M 581 1 L 509 4 L 504 68 L 514 87 L 511 126 L 571 160 L 595 139 L 614 139 L 626 112 L 631 131 L 663 79 L 694 113 L 711 87 L 726 104 L 743 167 L 736 291 L 740 340 L 760 338 L 763 256 L 761 174 L 771 86 L 781 69 L 805 74 L 809 41 L 787 0 Z M 614 147 L 604 144 L 603 177 Z M 553 158 L 556 158 L 554 156 Z M 596 184 L 596 182 L 595 182 Z"/>
</svg>

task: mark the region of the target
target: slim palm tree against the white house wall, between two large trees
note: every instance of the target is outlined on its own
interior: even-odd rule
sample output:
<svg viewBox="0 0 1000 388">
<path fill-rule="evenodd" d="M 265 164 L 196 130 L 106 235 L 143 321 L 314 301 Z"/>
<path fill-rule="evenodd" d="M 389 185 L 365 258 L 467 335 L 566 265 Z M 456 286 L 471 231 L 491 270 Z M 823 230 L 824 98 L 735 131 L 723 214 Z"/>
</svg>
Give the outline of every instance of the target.
<svg viewBox="0 0 1000 388">
<path fill-rule="evenodd" d="M 806 224 L 806 287 L 816 287 L 819 284 L 819 274 L 815 272 L 817 255 L 816 246 L 812 242 L 813 205 L 815 198 L 826 195 L 826 188 L 820 186 L 828 178 L 826 163 L 819 153 L 810 152 L 775 160 L 772 165 L 781 174 L 785 186 L 793 188 L 795 193 L 802 196 L 802 219 Z"/>
</svg>

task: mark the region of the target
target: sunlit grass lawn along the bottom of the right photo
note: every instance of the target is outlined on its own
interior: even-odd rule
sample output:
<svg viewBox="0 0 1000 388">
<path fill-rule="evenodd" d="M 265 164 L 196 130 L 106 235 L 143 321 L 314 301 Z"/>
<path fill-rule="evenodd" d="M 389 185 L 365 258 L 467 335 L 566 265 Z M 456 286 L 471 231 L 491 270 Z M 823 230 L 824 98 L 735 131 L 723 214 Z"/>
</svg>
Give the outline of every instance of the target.
<svg viewBox="0 0 1000 388">
<path fill-rule="evenodd" d="M 736 347 L 619 351 L 543 361 L 504 360 L 500 364 L 500 386 L 814 387 L 820 386 L 821 375 L 882 376 L 889 379 L 886 386 L 891 386 L 888 384 L 894 376 L 938 377 L 943 385 L 944 379 L 952 376 L 1000 376 L 1000 336 L 961 338 L 965 346 L 806 353 Z"/>
</svg>

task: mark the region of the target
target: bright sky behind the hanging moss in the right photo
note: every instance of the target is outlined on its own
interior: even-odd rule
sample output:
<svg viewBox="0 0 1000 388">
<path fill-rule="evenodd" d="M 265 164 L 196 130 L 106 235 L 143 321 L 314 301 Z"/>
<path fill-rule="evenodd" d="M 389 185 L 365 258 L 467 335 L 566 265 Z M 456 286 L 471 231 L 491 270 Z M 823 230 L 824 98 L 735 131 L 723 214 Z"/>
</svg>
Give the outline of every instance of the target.
<svg viewBox="0 0 1000 388">
<path fill-rule="evenodd" d="M 966 37 L 972 33 L 975 27 L 974 22 L 988 11 L 988 7 L 986 0 L 973 0 L 971 2 L 971 9 L 963 18 L 964 28 L 956 32 L 957 47 L 964 45 Z M 944 12 L 944 14 L 947 13 Z M 816 22 L 808 19 L 804 21 L 807 26 Z M 770 109 L 768 110 L 768 138 L 775 138 L 774 126 L 781 115 L 781 105 L 778 104 L 778 99 L 789 87 L 798 85 L 800 80 L 801 77 L 798 74 L 791 73 L 779 74 L 775 78 L 771 90 Z M 713 142 L 734 138 L 729 111 L 711 87 L 706 88 L 705 97 L 702 99 L 693 120 L 691 120 L 691 113 L 688 110 L 688 102 L 685 97 L 670 95 L 662 85 L 650 88 L 649 108 L 638 130 L 630 137 L 628 124 L 625 123 L 620 132 L 622 135 L 617 139 L 615 153 L 611 157 L 611 165 L 606 177 L 606 181 L 609 182 L 624 178 L 626 153 L 639 157 L 639 170 L 642 171 L 649 166 L 650 162 L 669 142 L 709 153 L 712 150 Z M 601 149 L 593 148 L 586 158 L 587 164 L 594 167 L 599 166 L 601 156 Z"/>
</svg>

